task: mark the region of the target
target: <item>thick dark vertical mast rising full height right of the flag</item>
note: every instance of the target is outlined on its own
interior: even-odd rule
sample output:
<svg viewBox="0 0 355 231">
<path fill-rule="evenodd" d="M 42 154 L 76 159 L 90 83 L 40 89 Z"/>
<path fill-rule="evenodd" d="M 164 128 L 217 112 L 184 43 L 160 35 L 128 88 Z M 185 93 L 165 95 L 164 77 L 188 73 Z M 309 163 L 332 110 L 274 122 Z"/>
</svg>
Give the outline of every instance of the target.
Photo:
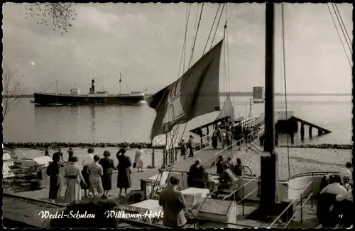
<svg viewBox="0 0 355 231">
<path fill-rule="evenodd" d="M 263 218 L 277 213 L 278 204 L 278 155 L 275 153 L 274 117 L 274 41 L 275 4 L 266 2 L 266 57 L 265 57 L 265 143 L 261 155 L 261 200 Z"/>
</svg>

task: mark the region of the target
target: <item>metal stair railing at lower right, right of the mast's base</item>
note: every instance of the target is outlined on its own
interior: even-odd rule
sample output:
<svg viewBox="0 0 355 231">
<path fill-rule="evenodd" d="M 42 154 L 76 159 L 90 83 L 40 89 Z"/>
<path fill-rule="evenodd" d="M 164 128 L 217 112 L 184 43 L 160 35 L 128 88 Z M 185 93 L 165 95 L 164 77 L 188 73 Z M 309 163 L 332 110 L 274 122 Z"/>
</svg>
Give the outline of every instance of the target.
<svg viewBox="0 0 355 231">
<path fill-rule="evenodd" d="M 310 191 L 310 193 L 309 193 L 307 196 L 305 196 L 305 191 L 306 191 L 306 189 L 309 188 L 310 186 L 311 186 L 311 191 Z M 297 200 L 298 203 L 295 205 L 295 207 L 296 207 L 295 210 L 293 210 L 293 216 L 292 216 L 290 219 L 288 219 L 288 220 L 286 221 L 286 225 L 285 225 L 283 228 L 286 228 L 286 227 L 288 227 L 288 225 L 290 225 L 290 222 L 293 221 L 293 219 L 295 218 L 295 216 L 297 215 L 297 213 L 300 213 L 300 216 L 301 216 L 300 222 L 303 222 L 303 209 L 302 209 L 302 208 L 305 206 L 305 203 L 307 203 L 307 201 L 309 201 L 310 199 L 311 199 L 312 208 L 313 208 L 313 193 L 312 193 L 312 191 L 313 191 L 313 180 L 310 181 L 310 183 L 307 184 L 307 186 L 305 186 L 305 188 L 303 188 L 302 193 L 300 193 L 300 200 L 299 200 L 299 201 Z M 303 201 L 304 198 L 306 198 L 305 201 Z M 271 222 L 270 225 L 268 225 L 268 227 L 273 227 L 273 225 L 275 225 L 275 222 L 277 222 L 277 221 L 281 218 L 281 216 L 282 216 L 284 213 L 287 213 L 287 216 L 286 216 L 286 217 L 288 218 L 288 210 L 289 210 L 289 208 L 290 208 L 292 205 L 295 204 L 295 202 L 296 202 L 296 200 L 293 200 L 293 201 L 283 210 L 283 212 L 280 213 L 280 215 L 278 215 L 278 217 L 275 218 L 275 219 L 273 220 L 273 222 Z M 299 208 L 297 208 L 298 205 L 300 205 Z"/>
</svg>

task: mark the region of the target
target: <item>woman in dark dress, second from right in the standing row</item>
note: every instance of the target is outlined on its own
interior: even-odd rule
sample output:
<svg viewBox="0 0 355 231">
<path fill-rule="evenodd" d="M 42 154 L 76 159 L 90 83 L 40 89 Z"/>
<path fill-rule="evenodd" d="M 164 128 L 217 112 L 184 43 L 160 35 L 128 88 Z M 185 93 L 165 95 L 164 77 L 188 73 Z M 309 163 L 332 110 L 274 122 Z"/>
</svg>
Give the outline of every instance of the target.
<svg viewBox="0 0 355 231">
<path fill-rule="evenodd" d="M 104 158 L 99 160 L 99 164 L 101 164 L 104 171 L 104 174 L 101 176 L 102 187 L 104 188 L 102 198 L 104 199 L 109 197 L 109 190 L 112 188 L 112 169 L 116 169 L 114 167 L 114 160 L 109 158 L 110 156 L 109 151 L 104 151 Z"/>
</svg>

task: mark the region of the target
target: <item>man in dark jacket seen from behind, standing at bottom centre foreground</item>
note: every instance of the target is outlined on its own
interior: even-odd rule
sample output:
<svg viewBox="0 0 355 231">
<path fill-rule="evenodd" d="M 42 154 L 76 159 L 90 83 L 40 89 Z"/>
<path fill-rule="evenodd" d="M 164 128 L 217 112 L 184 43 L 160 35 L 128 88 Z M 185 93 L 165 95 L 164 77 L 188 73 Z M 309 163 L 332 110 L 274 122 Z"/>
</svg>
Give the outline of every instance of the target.
<svg viewBox="0 0 355 231">
<path fill-rule="evenodd" d="M 163 207 L 163 224 L 167 227 L 183 227 L 186 224 L 185 197 L 178 191 L 179 179 L 170 177 L 170 184 L 160 193 L 159 205 Z"/>
</svg>

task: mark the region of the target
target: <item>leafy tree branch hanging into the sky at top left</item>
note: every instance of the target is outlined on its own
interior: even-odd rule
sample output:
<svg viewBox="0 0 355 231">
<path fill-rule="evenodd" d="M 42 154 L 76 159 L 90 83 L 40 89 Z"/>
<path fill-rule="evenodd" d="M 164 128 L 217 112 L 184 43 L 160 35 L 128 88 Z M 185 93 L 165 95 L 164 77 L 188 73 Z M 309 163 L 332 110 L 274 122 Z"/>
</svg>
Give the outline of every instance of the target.
<svg viewBox="0 0 355 231">
<path fill-rule="evenodd" d="M 46 2 L 33 3 L 25 6 L 26 15 L 40 18 L 37 24 L 49 26 L 52 24 L 53 30 L 60 30 L 60 33 L 67 33 L 72 23 L 70 21 L 75 19 L 77 13 L 70 2 Z"/>
</svg>

